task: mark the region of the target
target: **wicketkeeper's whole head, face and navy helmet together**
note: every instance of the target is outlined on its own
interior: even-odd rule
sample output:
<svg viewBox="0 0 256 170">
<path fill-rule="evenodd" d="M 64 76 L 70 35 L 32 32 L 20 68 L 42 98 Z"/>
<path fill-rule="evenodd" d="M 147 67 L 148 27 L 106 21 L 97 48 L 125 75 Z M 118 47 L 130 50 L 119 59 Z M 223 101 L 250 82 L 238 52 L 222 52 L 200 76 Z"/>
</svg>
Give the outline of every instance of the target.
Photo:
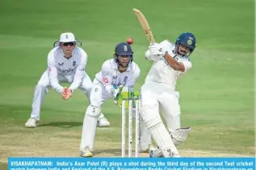
<svg viewBox="0 0 256 170">
<path fill-rule="evenodd" d="M 122 67 L 127 67 L 132 63 L 133 52 L 130 44 L 120 43 L 115 46 L 114 58 L 115 62 Z M 128 58 L 128 60 L 126 60 Z M 124 62 L 122 61 L 124 60 Z"/>
</svg>

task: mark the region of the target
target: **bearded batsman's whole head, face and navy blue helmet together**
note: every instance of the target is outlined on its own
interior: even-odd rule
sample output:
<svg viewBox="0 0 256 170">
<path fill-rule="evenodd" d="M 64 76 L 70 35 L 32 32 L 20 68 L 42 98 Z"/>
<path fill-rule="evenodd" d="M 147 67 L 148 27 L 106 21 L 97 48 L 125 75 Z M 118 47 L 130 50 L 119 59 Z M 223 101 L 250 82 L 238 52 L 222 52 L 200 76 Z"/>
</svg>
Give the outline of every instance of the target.
<svg viewBox="0 0 256 170">
<path fill-rule="evenodd" d="M 195 35 L 183 32 L 175 41 L 176 52 L 182 56 L 189 56 L 195 50 Z M 185 46 L 185 47 L 184 47 Z"/>
</svg>

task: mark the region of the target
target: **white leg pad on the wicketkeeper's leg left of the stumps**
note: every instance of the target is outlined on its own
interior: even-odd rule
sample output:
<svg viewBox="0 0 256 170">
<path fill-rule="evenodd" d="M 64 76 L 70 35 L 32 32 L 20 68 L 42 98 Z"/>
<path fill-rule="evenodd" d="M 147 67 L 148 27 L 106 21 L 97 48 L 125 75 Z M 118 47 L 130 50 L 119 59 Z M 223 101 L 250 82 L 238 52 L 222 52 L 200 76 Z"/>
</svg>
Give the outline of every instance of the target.
<svg viewBox="0 0 256 170">
<path fill-rule="evenodd" d="M 95 106 L 88 106 L 86 115 L 82 125 L 82 139 L 80 144 L 80 151 L 85 147 L 90 151 L 93 151 L 94 137 L 97 127 L 97 121 L 100 115 L 100 108 Z"/>
</svg>

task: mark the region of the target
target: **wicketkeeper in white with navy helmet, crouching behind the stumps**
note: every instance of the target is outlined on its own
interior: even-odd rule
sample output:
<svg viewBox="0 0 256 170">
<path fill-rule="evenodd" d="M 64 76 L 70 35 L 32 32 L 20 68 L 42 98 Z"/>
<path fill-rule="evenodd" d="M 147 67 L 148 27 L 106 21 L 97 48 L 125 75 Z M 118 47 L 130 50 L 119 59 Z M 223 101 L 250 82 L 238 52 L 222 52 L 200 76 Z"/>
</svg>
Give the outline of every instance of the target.
<svg viewBox="0 0 256 170">
<path fill-rule="evenodd" d="M 120 88 L 124 91 L 133 89 L 136 80 L 140 77 L 141 70 L 132 61 L 132 57 L 132 47 L 129 44 L 117 44 L 114 59 L 106 60 L 102 70 L 96 74 L 90 93 L 90 106 L 86 109 L 82 126 L 80 145 L 82 157 L 93 156 L 96 122 L 103 102 L 109 98 L 117 99 Z"/>
</svg>

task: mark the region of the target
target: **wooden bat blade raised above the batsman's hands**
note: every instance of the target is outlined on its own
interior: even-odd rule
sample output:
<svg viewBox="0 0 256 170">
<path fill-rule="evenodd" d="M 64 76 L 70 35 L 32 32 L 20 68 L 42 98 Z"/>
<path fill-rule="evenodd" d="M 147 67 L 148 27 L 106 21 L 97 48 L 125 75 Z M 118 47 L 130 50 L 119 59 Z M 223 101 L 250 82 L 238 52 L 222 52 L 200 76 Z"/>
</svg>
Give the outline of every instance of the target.
<svg viewBox="0 0 256 170">
<path fill-rule="evenodd" d="M 153 38 L 153 33 L 151 31 L 151 28 L 149 27 L 147 19 L 145 18 L 145 15 L 143 15 L 142 12 L 140 10 L 137 10 L 136 8 L 133 8 L 133 12 L 136 15 L 138 21 L 141 23 L 141 27 L 145 32 L 145 35 L 149 39 L 149 43 L 154 43 L 155 39 Z"/>
</svg>

